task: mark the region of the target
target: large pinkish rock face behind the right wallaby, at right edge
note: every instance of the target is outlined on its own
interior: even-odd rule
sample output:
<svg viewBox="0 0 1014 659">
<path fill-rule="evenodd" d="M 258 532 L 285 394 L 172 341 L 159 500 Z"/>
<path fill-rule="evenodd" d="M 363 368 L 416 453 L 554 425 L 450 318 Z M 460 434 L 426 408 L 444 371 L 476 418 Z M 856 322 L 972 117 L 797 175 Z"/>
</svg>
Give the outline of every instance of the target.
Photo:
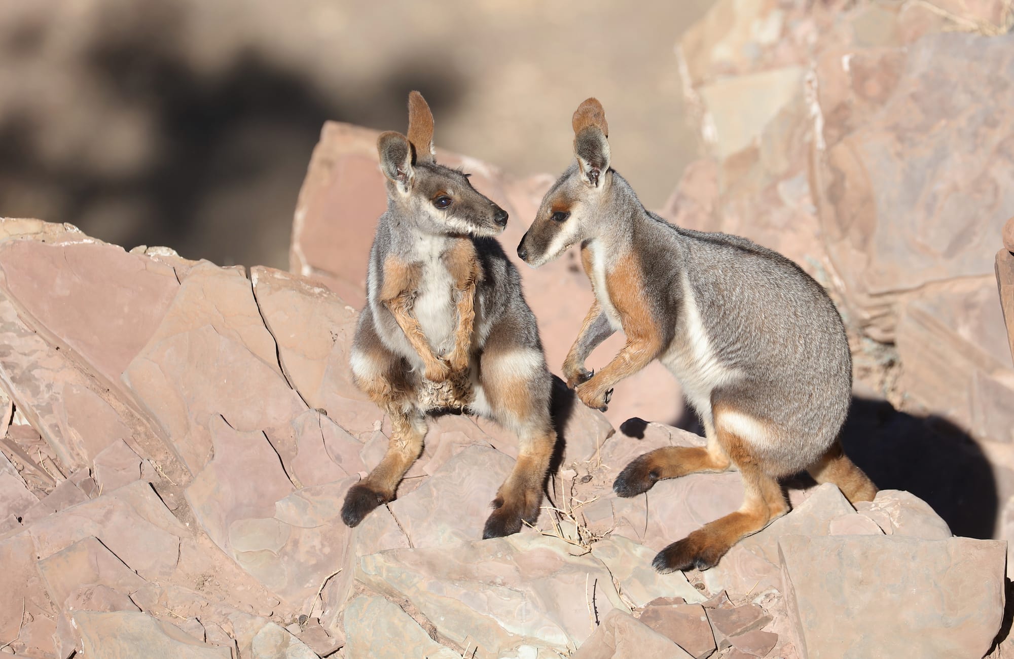
<svg viewBox="0 0 1014 659">
<path fill-rule="evenodd" d="M 990 271 L 995 236 L 1014 215 L 1014 124 L 999 111 L 1014 90 L 988 72 L 1010 65 L 1012 43 L 1010 34 L 921 39 L 880 107 L 816 153 L 827 253 L 848 312 L 875 339 L 893 340 L 898 294 Z M 967 112 L 963 99 L 983 97 L 990 102 Z M 824 132 L 835 130 L 837 116 L 818 102 Z"/>
</svg>

